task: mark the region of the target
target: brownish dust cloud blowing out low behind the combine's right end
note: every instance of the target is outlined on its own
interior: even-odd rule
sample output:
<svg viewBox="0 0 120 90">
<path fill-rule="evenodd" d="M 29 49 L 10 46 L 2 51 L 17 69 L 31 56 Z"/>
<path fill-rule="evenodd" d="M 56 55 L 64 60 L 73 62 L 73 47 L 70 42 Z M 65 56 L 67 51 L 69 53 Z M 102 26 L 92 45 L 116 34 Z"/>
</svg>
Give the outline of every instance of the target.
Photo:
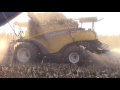
<svg viewBox="0 0 120 90">
<path fill-rule="evenodd" d="M 90 53 L 91 60 L 96 61 L 99 65 L 103 65 L 109 68 L 120 67 L 120 48 L 110 49 L 109 52 L 104 54 Z"/>
</svg>

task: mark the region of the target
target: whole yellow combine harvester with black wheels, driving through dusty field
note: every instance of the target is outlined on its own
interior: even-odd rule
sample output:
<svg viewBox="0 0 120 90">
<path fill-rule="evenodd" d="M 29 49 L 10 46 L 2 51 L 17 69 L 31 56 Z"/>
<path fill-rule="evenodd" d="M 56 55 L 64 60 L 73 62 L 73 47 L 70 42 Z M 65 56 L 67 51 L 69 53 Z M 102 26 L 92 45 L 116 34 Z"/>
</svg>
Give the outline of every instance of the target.
<svg viewBox="0 0 120 90">
<path fill-rule="evenodd" d="M 25 38 L 14 41 L 20 42 L 14 51 L 14 62 L 41 61 L 44 56 L 55 55 L 69 63 L 82 64 L 87 58 L 86 50 L 105 53 L 108 50 L 103 48 L 94 31 L 94 22 L 97 21 L 97 17 L 65 19 L 57 24 L 40 25 L 39 28 L 32 27 L 31 22 L 15 22 L 15 25 L 27 27 L 27 30 Z M 82 27 L 84 23 L 92 23 L 92 27 L 86 30 Z"/>
</svg>

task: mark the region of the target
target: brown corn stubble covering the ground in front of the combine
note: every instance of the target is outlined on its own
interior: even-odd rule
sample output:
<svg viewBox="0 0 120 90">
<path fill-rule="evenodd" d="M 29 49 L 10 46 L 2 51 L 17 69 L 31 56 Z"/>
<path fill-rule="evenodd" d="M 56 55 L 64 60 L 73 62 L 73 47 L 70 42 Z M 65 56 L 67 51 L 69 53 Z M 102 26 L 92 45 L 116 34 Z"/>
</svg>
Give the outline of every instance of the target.
<svg viewBox="0 0 120 90">
<path fill-rule="evenodd" d="M 0 65 L 0 78 L 119 78 L 118 68 L 63 63 Z"/>
</svg>

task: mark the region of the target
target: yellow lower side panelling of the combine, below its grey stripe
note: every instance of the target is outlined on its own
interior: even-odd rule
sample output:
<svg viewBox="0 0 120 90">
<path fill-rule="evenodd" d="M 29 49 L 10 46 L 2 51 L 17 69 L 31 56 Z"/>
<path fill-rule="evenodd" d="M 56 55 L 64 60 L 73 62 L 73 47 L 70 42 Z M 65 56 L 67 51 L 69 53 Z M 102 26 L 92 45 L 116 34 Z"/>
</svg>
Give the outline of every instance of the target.
<svg viewBox="0 0 120 90">
<path fill-rule="evenodd" d="M 46 35 L 47 33 L 48 32 L 43 35 Z M 95 40 L 96 37 L 93 31 L 77 30 L 77 32 L 74 33 L 60 34 L 51 38 L 37 38 L 37 36 L 35 36 L 29 39 L 33 39 L 41 43 L 49 53 L 56 53 L 65 45 L 73 43 L 74 41 Z"/>
</svg>

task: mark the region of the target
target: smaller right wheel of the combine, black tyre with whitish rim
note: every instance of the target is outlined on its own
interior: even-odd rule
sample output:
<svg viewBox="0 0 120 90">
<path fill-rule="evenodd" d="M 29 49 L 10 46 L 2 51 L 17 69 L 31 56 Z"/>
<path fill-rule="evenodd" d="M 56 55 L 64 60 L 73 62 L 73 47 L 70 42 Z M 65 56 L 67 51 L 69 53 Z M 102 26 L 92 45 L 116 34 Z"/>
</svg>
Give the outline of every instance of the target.
<svg viewBox="0 0 120 90">
<path fill-rule="evenodd" d="M 77 46 L 71 46 L 64 52 L 64 61 L 76 65 L 83 65 L 86 59 L 85 51 Z"/>
</svg>

